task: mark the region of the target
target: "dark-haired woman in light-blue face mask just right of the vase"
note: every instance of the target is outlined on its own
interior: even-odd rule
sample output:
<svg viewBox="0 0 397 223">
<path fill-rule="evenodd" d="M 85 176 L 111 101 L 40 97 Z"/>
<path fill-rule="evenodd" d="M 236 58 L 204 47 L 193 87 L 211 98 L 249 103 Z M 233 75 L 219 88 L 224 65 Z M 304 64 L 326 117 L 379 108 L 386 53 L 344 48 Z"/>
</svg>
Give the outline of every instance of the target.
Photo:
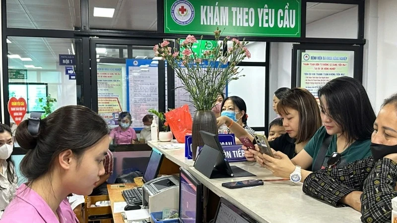
<svg viewBox="0 0 397 223">
<path fill-rule="evenodd" d="M 251 141 L 254 139 L 255 131 L 247 125 L 247 118 L 247 106 L 244 100 L 237 96 L 231 96 L 222 102 L 221 116 L 218 117 L 216 121 L 218 126 L 226 124 L 229 129 L 229 133 L 234 133 L 236 136 L 236 143 L 240 144 L 241 142 L 238 139 L 238 136 L 242 134 L 241 131 L 248 133 Z M 232 128 L 233 123 L 241 127 Z"/>
</svg>

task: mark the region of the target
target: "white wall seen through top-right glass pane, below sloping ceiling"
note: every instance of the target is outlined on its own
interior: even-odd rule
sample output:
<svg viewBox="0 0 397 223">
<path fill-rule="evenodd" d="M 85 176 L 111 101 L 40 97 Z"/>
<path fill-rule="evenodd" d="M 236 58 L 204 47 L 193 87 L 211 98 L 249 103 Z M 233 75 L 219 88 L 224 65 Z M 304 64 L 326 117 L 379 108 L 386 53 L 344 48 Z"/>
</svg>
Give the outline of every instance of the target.
<svg viewBox="0 0 397 223">
<path fill-rule="evenodd" d="M 306 37 L 357 38 L 358 6 L 306 25 Z"/>
</svg>

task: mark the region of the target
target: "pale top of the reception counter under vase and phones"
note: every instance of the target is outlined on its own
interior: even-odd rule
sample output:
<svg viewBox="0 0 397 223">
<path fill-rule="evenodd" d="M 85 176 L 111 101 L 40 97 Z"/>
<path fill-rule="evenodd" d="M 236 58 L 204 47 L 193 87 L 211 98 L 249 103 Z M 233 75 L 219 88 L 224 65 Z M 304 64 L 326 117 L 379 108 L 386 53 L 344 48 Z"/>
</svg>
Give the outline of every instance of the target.
<svg viewBox="0 0 397 223">
<path fill-rule="evenodd" d="M 256 163 L 230 163 L 257 176 L 209 179 L 194 166 L 194 161 L 185 158 L 185 149 L 162 149 L 166 143 L 148 145 L 162 152 L 175 165 L 187 169 L 208 190 L 224 197 L 260 223 L 359 223 L 361 213 L 352 208 L 334 208 L 302 192 L 302 183 L 291 185 L 290 181 L 268 181 L 253 188 L 227 189 L 223 182 L 246 179 L 277 179 L 266 168 Z M 214 205 L 213 205 L 214 206 Z M 216 205 L 215 205 L 216 206 Z M 207 206 L 207 209 L 211 205 Z M 207 213 L 210 213 L 209 211 Z M 210 214 L 207 214 L 211 217 Z M 210 220 L 210 219 L 209 219 Z M 209 221 L 207 219 L 207 221 Z"/>
</svg>

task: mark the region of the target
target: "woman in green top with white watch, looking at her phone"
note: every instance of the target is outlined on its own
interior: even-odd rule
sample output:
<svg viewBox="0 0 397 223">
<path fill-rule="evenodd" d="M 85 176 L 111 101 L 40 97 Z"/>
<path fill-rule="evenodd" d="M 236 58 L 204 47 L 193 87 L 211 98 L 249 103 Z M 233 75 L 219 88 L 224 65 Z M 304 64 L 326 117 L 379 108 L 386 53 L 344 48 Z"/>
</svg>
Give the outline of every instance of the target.
<svg viewBox="0 0 397 223">
<path fill-rule="evenodd" d="M 361 83 L 351 77 L 335 78 L 321 87 L 318 95 L 324 126 L 292 160 L 281 152 L 274 153 L 275 158 L 271 158 L 250 150 L 256 161 L 274 175 L 289 178 L 299 173 L 298 181 L 303 182 L 311 173 L 305 169 L 314 166 L 317 159 L 323 159 L 319 161 L 323 167 L 343 167 L 371 155 L 371 134 L 376 115 Z M 325 145 L 328 150 L 325 157 L 318 158 L 327 135 L 331 135 L 331 142 Z M 329 163 L 331 155 L 333 159 Z"/>
</svg>

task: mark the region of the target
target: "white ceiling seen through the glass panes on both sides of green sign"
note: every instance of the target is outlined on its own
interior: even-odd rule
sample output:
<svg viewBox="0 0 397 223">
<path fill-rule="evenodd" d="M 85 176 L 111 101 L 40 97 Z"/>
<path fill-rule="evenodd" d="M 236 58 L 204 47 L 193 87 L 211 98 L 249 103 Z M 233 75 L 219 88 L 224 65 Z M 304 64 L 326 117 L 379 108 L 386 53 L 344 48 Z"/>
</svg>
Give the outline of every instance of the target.
<svg viewBox="0 0 397 223">
<path fill-rule="evenodd" d="M 156 0 L 89 0 L 91 29 L 157 30 Z M 74 30 L 80 27 L 80 0 L 6 0 L 7 27 Z M 113 18 L 93 17 L 94 7 L 115 8 Z M 356 7 L 350 4 L 307 3 L 306 23 Z M 57 38 L 8 37 L 8 54 L 30 57 L 33 61 L 9 58 L 8 66 L 58 67 L 60 54 L 71 52 L 75 40 Z M 78 40 L 79 41 L 79 40 Z M 134 49 L 132 55 L 153 57 L 150 49 Z M 127 56 L 125 50 L 124 56 Z M 108 50 L 103 57 L 119 57 L 118 50 Z"/>
</svg>

